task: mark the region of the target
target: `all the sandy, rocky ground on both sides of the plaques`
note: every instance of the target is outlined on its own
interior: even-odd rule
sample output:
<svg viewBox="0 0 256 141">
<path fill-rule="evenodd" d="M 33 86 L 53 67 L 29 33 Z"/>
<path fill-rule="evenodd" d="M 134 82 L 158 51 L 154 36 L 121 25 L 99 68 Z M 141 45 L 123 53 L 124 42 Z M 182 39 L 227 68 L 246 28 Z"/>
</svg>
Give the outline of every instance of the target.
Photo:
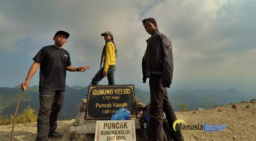
<svg viewBox="0 0 256 141">
<path fill-rule="evenodd" d="M 187 125 L 222 124 L 226 130 L 204 132 L 203 130 L 182 131 L 185 141 L 256 141 L 256 101 L 240 102 L 226 106 L 215 106 L 211 109 L 176 112 L 178 119 L 183 119 Z M 70 121 L 59 121 L 57 131 L 64 133 L 59 141 L 69 141 L 68 131 Z M 0 126 L 0 141 L 9 141 L 12 125 Z M 16 125 L 13 141 L 34 141 L 36 123 Z"/>
</svg>

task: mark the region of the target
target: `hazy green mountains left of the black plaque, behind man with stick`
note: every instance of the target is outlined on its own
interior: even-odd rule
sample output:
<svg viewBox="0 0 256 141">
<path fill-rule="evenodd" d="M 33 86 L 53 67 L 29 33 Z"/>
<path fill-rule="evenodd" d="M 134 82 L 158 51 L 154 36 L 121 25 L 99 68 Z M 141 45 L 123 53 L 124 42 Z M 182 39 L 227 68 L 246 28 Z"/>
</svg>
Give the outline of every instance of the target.
<svg viewBox="0 0 256 141">
<path fill-rule="evenodd" d="M 80 89 L 79 89 L 80 88 Z M 81 99 L 87 98 L 87 87 L 69 87 L 66 85 L 66 94 L 64 98 L 64 104 L 60 112 L 60 119 L 74 118 L 79 111 L 81 105 Z M 23 92 L 21 102 L 19 104 L 18 113 L 24 110 L 24 108 L 30 106 L 38 112 L 39 110 L 39 87 L 28 86 L 28 90 Z M 20 85 L 14 88 L 1 88 L 0 87 L 0 107 L 3 108 L 2 115 L 12 115 L 16 108 L 18 98 L 20 96 Z M 70 110 L 72 109 L 72 110 Z"/>
</svg>

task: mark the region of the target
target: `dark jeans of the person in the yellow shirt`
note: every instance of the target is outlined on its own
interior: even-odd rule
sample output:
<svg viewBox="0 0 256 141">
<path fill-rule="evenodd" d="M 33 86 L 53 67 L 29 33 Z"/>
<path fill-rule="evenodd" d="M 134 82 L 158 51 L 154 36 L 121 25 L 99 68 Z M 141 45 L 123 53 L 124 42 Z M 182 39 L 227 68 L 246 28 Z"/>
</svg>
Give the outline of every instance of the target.
<svg viewBox="0 0 256 141">
<path fill-rule="evenodd" d="M 107 77 L 108 77 L 108 85 L 114 85 L 114 72 L 116 70 L 116 65 L 109 65 L 108 71 L 107 71 Z M 104 66 L 95 74 L 94 78 L 92 78 L 92 85 L 98 85 L 100 80 L 104 78 L 103 76 Z"/>
</svg>

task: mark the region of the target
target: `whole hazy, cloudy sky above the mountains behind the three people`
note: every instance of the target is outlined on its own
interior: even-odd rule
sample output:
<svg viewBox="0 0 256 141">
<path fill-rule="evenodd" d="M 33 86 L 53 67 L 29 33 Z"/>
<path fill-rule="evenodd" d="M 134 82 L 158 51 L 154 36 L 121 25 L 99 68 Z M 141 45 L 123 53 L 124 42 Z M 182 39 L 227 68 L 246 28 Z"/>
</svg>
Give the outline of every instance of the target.
<svg viewBox="0 0 256 141">
<path fill-rule="evenodd" d="M 100 69 L 106 30 L 118 50 L 116 84 L 142 83 L 141 61 L 150 37 L 142 20 L 155 18 L 172 41 L 172 88 L 256 89 L 255 0 L 4 0 L 0 5 L 0 87 L 21 84 L 32 58 L 54 44 L 58 30 L 70 33 L 64 49 L 72 65 L 69 86 L 88 86 Z M 30 80 L 38 85 L 39 70 Z M 104 78 L 100 84 L 107 84 Z"/>
</svg>

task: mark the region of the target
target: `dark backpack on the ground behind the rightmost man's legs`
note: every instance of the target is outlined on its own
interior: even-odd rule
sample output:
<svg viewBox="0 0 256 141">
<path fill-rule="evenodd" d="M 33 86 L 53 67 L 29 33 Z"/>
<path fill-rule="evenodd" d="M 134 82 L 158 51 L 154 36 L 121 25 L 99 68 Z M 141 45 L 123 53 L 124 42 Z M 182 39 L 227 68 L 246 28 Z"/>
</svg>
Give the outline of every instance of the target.
<svg viewBox="0 0 256 141">
<path fill-rule="evenodd" d="M 143 141 L 148 141 L 148 127 L 150 126 L 148 117 L 150 116 L 149 114 L 149 106 L 150 104 L 146 105 L 143 108 L 143 114 L 142 114 L 142 119 L 140 122 L 140 126 L 142 127 L 144 134 L 143 134 Z M 164 113 L 163 113 L 164 114 Z M 170 134 L 170 126 L 168 124 L 168 121 L 166 117 L 163 117 L 163 141 L 172 141 L 171 134 Z"/>
</svg>

